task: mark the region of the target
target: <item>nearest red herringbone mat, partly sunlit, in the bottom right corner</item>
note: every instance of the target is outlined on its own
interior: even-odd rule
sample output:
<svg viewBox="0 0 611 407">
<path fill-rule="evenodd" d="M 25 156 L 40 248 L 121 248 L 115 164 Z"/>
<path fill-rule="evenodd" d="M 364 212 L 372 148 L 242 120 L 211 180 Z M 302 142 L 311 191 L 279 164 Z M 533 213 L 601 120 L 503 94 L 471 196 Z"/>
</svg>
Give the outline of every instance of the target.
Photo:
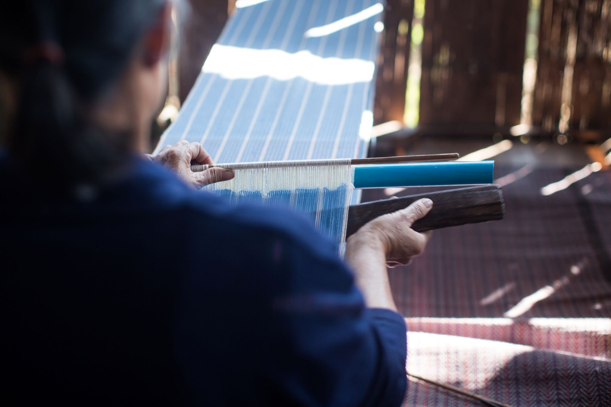
<svg viewBox="0 0 611 407">
<path fill-rule="evenodd" d="M 510 406 L 609 406 L 611 362 L 494 340 L 408 333 L 408 372 Z M 405 406 L 481 406 L 411 380 Z"/>
</svg>

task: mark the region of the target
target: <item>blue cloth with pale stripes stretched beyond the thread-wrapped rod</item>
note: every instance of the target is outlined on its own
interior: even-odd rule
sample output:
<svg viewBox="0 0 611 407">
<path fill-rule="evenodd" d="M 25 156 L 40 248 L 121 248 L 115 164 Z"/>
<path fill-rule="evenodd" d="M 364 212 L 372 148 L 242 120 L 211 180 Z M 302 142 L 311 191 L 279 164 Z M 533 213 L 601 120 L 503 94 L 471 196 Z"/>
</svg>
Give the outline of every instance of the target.
<svg viewBox="0 0 611 407">
<path fill-rule="evenodd" d="M 242 3 L 156 150 L 188 140 L 215 162 L 364 157 L 381 2 Z"/>
</svg>

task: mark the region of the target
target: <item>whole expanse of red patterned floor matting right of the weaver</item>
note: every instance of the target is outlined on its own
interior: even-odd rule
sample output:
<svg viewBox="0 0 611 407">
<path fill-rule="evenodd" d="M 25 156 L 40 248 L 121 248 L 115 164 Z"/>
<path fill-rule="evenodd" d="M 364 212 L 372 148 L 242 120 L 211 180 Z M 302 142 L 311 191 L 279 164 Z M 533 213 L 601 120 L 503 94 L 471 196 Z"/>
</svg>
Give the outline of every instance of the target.
<svg viewBox="0 0 611 407">
<path fill-rule="evenodd" d="M 436 231 L 390 272 L 408 372 L 511 406 L 611 406 L 611 172 L 596 170 L 497 164 L 505 220 Z M 405 405 L 481 406 L 411 378 Z"/>
</svg>

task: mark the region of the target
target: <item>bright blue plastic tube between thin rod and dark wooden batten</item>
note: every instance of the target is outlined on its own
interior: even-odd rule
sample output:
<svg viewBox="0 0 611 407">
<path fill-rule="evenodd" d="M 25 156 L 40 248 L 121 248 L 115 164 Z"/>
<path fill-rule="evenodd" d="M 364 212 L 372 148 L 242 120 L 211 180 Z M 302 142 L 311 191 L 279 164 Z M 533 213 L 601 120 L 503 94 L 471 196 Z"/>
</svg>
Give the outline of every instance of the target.
<svg viewBox="0 0 611 407">
<path fill-rule="evenodd" d="M 355 188 L 491 184 L 494 161 L 356 165 Z"/>
</svg>

